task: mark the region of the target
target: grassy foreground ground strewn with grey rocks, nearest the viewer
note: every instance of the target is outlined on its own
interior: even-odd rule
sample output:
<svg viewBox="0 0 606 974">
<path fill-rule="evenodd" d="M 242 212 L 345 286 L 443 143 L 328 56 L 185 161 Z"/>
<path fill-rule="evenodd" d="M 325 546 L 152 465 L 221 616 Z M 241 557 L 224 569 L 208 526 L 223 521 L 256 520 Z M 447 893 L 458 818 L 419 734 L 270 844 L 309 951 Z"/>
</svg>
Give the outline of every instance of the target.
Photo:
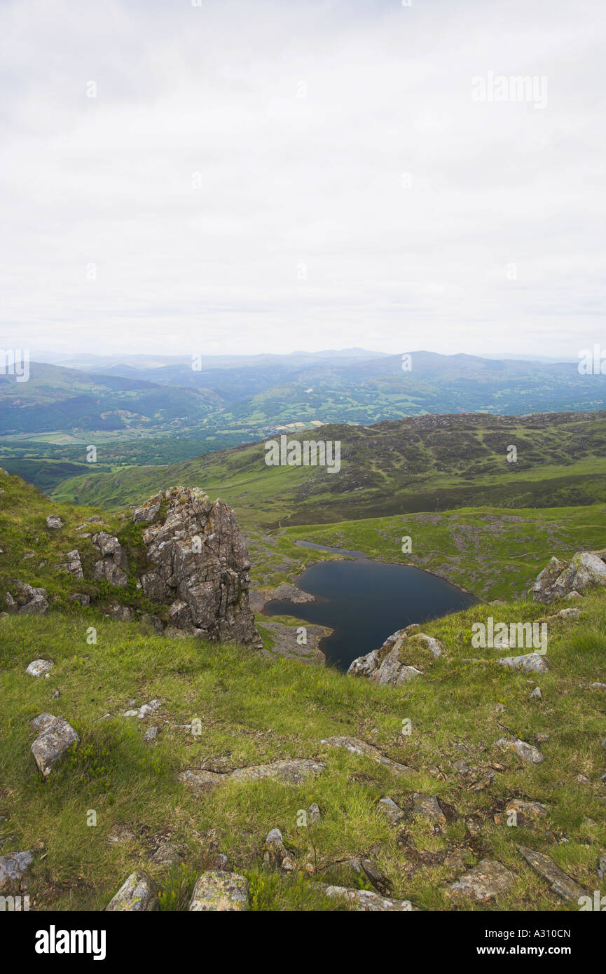
<svg viewBox="0 0 606 974">
<path fill-rule="evenodd" d="M 38 909 L 101 909 L 138 867 L 159 881 L 167 905 L 179 908 L 217 850 L 251 880 L 258 909 L 321 907 L 322 898 L 304 878 L 305 863 L 316 866 L 311 879 L 331 879 L 336 878 L 331 864 L 360 853 L 380 865 L 395 895 L 421 908 L 449 909 L 443 884 L 457 870 L 443 859 L 455 849 L 464 850 L 469 864 L 494 856 L 515 874 L 513 891 L 497 909 L 566 909 L 526 866 L 515 843 L 546 852 L 589 890 L 600 888 L 595 870 L 606 845 L 605 790 L 599 781 L 605 763 L 604 695 L 588 685 L 606 679 L 605 608 L 606 593 L 592 592 L 584 599 L 581 622 L 558 621 L 550 629 L 552 669 L 539 678 L 541 701 L 529 698 L 534 682 L 527 675 L 462 661 L 471 655 L 474 619 L 487 614 L 508 621 L 537 618 L 540 607 L 531 603 L 476 606 L 424 627 L 443 641 L 445 654 L 435 662 L 411 657 L 426 675 L 401 689 L 233 647 L 143 635 L 134 625 L 93 611 L 70 618 L 4 618 L 0 811 L 9 817 L 0 835 L 11 838 L 3 852 L 46 850 L 30 880 L 32 906 Z M 92 624 L 95 646 L 86 642 Z M 24 672 L 39 656 L 55 660 L 48 680 Z M 490 658 L 495 652 L 473 651 L 473 656 Z M 56 687 L 61 695 L 52 701 Z M 123 716 L 132 697 L 137 705 L 153 697 L 165 702 L 152 719 L 138 721 Z M 504 712 L 495 709 L 500 703 Z M 48 781 L 41 780 L 29 753 L 35 735 L 28 721 L 42 711 L 64 715 L 81 735 L 79 748 Z M 110 716 L 102 719 L 106 713 Z M 200 736 L 182 727 L 195 717 L 202 721 Z M 412 734 L 402 737 L 406 717 Z M 161 729 L 152 744 L 142 740 L 150 723 Z M 504 755 L 496 746 L 504 728 L 530 742 L 548 734 L 540 745 L 545 763 L 526 766 Z M 397 778 L 367 759 L 325 750 L 320 743 L 326 735 L 347 733 L 418 773 Z M 231 783 L 205 798 L 196 798 L 176 779 L 183 768 L 244 767 L 289 756 L 321 756 L 327 769 L 296 788 L 272 781 Z M 453 768 L 462 757 L 473 768 L 472 781 L 496 769 L 489 788 L 466 787 Z M 580 773 L 588 783 L 579 782 Z M 377 813 L 381 796 L 401 805 L 417 790 L 455 807 L 457 818 L 443 835 L 422 821 L 392 827 Z M 547 820 L 524 829 L 495 824 L 495 812 L 512 796 L 549 805 Z M 321 806 L 322 823 L 297 827 L 298 809 L 312 802 Z M 87 826 L 91 809 L 95 828 Z M 471 816 L 480 827 L 476 838 L 466 825 Z M 133 837 L 108 843 L 124 826 Z M 297 879 L 286 880 L 261 865 L 272 827 L 282 830 L 296 854 Z M 150 852 L 166 838 L 182 850 L 183 865 L 171 870 L 148 863 Z M 553 843 L 554 838 L 568 842 Z M 603 883 L 601 892 L 606 892 Z"/>
</svg>

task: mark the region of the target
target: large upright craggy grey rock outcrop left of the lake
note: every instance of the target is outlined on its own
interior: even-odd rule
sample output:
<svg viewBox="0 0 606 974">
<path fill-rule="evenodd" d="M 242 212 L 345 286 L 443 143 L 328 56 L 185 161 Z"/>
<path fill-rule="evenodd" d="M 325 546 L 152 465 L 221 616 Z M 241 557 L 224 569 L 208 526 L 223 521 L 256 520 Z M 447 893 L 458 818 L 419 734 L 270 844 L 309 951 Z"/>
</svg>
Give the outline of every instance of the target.
<svg viewBox="0 0 606 974">
<path fill-rule="evenodd" d="M 166 515 L 164 513 L 166 509 Z M 171 487 L 133 510 L 151 571 L 143 593 L 170 605 L 173 626 L 207 639 L 260 646 L 248 603 L 250 562 L 236 515 L 198 487 Z M 96 536 L 98 537 L 98 536 Z"/>
</svg>

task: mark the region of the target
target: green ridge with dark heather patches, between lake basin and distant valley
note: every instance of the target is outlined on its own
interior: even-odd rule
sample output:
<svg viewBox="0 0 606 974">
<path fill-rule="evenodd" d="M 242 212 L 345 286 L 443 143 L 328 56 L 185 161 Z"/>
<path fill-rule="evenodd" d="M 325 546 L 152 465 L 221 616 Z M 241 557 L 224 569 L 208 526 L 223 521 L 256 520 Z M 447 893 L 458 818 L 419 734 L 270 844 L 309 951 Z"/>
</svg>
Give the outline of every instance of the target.
<svg viewBox="0 0 606 974">
<path fill-rule="evenodd" d="M 606 502 L 603 412 L 424 416 L 372 427 L 325 426 L 289 438 L 340 440 L 340 472 L 267 467 L 262 441 L 166 467 L 69 478 L 54 496 L 115 510 L 170 484 L 190 483 L 220 495 L 246 526 Z M 507 459 L 511 445 L 516 463 Z"/>
</svg>

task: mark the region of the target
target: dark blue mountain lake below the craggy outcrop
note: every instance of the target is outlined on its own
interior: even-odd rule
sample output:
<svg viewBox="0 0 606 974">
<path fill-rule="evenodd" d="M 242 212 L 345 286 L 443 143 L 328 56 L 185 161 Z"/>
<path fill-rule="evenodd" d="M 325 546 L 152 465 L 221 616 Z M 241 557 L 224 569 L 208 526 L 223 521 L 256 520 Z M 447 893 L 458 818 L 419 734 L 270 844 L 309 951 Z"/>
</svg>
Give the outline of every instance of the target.
<svg viewBox="0 0 606 974">
<path fill-rule="evenodd" d="M 318 547 L 326 550 L 325 545 Z M 412 565 L 370 558 L 317 562 L 297 586 L 315 595 L 316 601 L 295 605 L 275 599 L 265 606 L 265 615 L 330 626 L 334 631 L 322 640 L 321 649 L 326 661 L 340 670 L 411 622 L 446 616 L 477 602 L 473 595 Z"/>
</svg>

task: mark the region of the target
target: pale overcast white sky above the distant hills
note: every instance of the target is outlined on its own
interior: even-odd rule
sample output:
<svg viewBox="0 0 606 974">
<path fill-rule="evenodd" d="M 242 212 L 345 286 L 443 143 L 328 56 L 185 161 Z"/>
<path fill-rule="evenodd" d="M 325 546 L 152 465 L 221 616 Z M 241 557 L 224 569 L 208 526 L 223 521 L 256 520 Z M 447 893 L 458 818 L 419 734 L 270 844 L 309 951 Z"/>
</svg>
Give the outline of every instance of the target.
<svg viewBox="0 0 606 974">
<path fill-rule="evenodd" d="M 606 344 L 605 42 L 599 0 L 0 0 L 0 347 Z"/>
</svg>

